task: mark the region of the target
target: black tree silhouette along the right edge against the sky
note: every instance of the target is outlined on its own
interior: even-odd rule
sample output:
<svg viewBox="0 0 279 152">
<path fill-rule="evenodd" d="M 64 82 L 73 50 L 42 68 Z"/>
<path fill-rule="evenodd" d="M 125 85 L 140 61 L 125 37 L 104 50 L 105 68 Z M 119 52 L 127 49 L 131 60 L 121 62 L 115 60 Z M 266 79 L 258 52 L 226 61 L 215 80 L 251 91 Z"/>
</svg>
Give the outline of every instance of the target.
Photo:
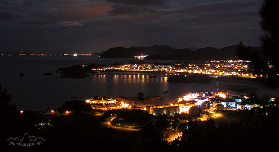
<svg viewBox="0 0 279 152">
<path fill-rule="evenodd" d="M 268 75 L 266 83 L 269 86 L 278 87 L 279 1 L 264 0 L 259 14 L 261 17 L 259 25 L 265 32 L 265 35 L 260 37 L 263 51 L 251 50 L 240 41 L 236 55 L 240 59 L 250 60 L 249 69 L 255 74 Z"/>
</svg>

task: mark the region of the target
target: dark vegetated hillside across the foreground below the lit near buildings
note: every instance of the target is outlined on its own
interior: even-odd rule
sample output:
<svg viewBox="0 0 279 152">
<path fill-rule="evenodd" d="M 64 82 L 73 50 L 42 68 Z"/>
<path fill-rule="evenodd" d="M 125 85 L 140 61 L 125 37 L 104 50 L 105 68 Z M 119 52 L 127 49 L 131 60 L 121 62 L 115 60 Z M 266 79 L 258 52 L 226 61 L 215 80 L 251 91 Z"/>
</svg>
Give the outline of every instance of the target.
<svg viewBox="0 0 279 152">
<path fill-rule="evenodd" d="M 20 113 L 10 104 L 11 96 L 0 89 L 1 151 L 274 151 L 279 133 L 278 108 L 267 106 L 243 111 L 220 111 L 238 121 L 224 123 L 215 119 L 205 122 L 180 122 L 183 115 L 154 116 L 144 110 L 111 110 L 103 116 L 85 113 L 88 107 L 78 101 L 68 101 L 60 110 L 71 109 L 70 115 L 38 116 L 36 112 Z M 75 105 L 73 107 L 73 105 Z M 75 108 L 77 107 L 77 108 Z M 111 116 L 144 126 L 141 131 L 123 131 L 106 126 Z M 148 123 L 150 119 L 155 123 Z M 189 117 L 190 118 L 190 115 Z M 36 127 L 38 123 L 50 123 Z M 166 140 L 173 130 L 183 132 L 173 142 Z M 42 145 L 31 147 L 9 145 L 10 137 L 22 138 L 24 133 L 41 137 Z"/>
</svg>

